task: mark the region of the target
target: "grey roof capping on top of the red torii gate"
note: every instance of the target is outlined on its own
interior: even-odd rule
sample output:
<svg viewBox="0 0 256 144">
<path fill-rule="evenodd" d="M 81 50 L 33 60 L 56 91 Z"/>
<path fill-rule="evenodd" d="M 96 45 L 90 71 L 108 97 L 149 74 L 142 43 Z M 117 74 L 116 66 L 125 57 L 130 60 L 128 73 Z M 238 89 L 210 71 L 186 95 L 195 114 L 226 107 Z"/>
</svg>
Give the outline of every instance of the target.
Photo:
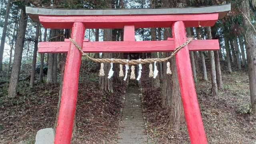
<svg viewBox="0 0 256 144">
<path fill-rule="evenodd" d="M 166 14 L 207 14 L 218 13 L 218 19 L 224 18 L 231 4 L 185 8 L 132 8 L 132 9 L 58 9 L 26 6 L 26 13 L 34 22 L 39 15 L 52 16 L 125 16 L 125 15 L 166 15 Z"/>
</svg>

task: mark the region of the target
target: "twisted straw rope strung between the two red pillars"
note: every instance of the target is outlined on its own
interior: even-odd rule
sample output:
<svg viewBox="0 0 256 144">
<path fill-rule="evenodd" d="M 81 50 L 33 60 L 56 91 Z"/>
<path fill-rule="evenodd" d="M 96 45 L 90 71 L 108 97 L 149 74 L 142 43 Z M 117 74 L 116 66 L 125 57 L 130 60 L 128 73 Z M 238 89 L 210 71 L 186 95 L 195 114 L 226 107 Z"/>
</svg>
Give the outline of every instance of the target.
<svg viewBox="0 0 256 144">
<path fill-rule="evenodd" d="M 146 58 L 146 59 L 141 59 L 141 60 L 128 60 L 126 61 L 125 59 L 110 59 L 110 58 L 91 58 L 90 56 L 88 56 L 86 53 L 84 53 L 82 51 L 82 48 L 71 38 L 69 38 L 70 41 L 76 46 L 76 48 L 81 52 L 82 56 L 86 56 L 87 58 L 89 58 L 90 60 L 94 61 L 94 62 L 100 62 L 100 63 L 119 63 L 119 64 L 147 64 L 147 63 L 152 63 L 152 62 L 166 62 L 167 60 L 169 60 L 170 58 L 172 58 L 173 56 L 175 56 L 175 54 L 177 54 L 178 51 L 180 51 L 184 46 L 188 45 L 193 38 L 188 38 L 188 40 L 186 42 L 184 42 L 182 45 L 180 45 L 178 48 L 176 48 L 172 54 L 169 57 L 166 58 Z"/>
</svg>

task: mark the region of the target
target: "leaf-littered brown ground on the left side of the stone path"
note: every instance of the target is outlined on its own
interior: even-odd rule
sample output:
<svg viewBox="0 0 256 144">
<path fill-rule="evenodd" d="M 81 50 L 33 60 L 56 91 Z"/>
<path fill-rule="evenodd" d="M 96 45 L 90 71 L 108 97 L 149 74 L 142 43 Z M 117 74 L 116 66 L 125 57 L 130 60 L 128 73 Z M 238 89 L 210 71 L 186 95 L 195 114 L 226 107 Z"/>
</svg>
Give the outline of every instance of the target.
<svg viewBox="0 0 256 144">
<path fill-rule="evenodd" d="M 97 73 L 88 70 L 93 66 L 83 62 L 80 71 L 73 144 L 116 141 L 125 84 L 113 84 L 113 94 L 102 92 L 98 88 Z M 6 98 L 7 86 L 0 90 L 0 144 L 34 144 L 38 130 L 54 127 L 59 84 L 38 84 L 34 90 L 28 86 L 28 81 L 20 82 L 18 97 L 14 99 Z"/>
</svg>

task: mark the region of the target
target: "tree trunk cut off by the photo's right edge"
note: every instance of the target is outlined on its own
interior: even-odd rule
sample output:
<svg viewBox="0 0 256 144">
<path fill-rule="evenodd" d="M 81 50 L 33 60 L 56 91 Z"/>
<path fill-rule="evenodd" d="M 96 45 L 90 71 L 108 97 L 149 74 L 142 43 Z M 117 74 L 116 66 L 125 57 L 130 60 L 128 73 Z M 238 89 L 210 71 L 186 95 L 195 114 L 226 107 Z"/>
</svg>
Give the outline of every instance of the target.
<svg viewBox="0 0 256 144">
<path fill-rule="evenodd" d="M 244 26 L 248 28 L 246 32 L 246 56 L 248 61 L 250 97 L 252 104 L 252 114 L 256 114 L 256 31 L 250 25 L 250 6 L 249 0 L 243 0 L 241 3 Z"/>
</svg>

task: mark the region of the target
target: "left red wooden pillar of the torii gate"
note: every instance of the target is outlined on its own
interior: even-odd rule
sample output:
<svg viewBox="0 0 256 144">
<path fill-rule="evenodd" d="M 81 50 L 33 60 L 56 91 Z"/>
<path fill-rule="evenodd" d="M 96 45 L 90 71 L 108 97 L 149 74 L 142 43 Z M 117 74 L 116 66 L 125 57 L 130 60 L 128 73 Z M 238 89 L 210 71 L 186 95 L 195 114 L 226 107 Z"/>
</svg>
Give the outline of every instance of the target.
<svg viewBox="0 0 256 144">
<path fill-rule="evenodd" d="M 84 32 L 85 27 L 82 22 L 75 22 L 73 24 L 71 38 L 81 47 L 83 46 Z M 62 97 L 54 144 L 70 144 L 71 141 L 76 112 L 80 64 L 81 53 L 76 46 L 70 42 L 66 59 Z"/>
</svg>

